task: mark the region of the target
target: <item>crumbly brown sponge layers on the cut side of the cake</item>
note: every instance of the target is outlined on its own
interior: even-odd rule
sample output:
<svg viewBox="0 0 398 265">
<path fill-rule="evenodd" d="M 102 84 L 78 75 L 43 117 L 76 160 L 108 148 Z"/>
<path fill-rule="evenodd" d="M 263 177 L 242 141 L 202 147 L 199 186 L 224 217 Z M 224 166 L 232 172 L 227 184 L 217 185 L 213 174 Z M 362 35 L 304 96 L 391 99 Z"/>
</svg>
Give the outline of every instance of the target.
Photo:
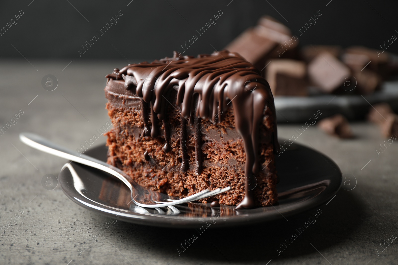
<svg viewBox="0 0 398 265">
<path fill-rule="evenodd" d="M 230 107 L 220 115 L 222 122 L 211 124 L 201 120 L 200 135 L 203 170 L 195 172 L 195 133 L 193 126 L 186 125 L 186 146 L 181 146 L 181 110 L 176 105 L 176 96 L 168 98 L 166 128 L 170 133 L 170 151 L 164 151 L 166 139 L 164 125 L 158 137 L 143 136 L 142 98 L 124 89 L 123 80 L 110 79 L 105 87 L 108 99 L 106 108 L 113 128 L 106 133 L 109 147 L 108 160 L 133 180 L 147 189 L 167 193 L 176 197 L 186 197 L 209 188 L 231 187 L 231 190 L 204 199 L 203 202 L 218 200 L 224 205 L 237 205 L 245 194 L 244 166 L 246 154 L 243 140 L 235 129 L 234 111 Z M 149 120 L 152 117 L 149 114 Z M 149 122 L 150 124 L 150 122 Z M 277 202 L 273 143 L 271 133 L 273 123 L 267 114 L 260 126 L 260 172 L 255 175 L 254 189 L 256 205 L 267 206 Z M 188 170 L 181 170 L 183 149 L 187 150 Z"/>
</svg>

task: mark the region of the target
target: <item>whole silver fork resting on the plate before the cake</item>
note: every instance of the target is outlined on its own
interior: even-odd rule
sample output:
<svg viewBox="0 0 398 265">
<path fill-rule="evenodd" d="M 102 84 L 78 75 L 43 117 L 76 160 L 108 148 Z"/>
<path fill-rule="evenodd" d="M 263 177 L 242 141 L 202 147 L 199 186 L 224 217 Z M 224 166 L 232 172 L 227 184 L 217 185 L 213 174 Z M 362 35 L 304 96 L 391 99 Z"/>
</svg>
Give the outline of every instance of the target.
<svg viewBox="0 0 398 265">
<path fill-rule="evenodd" d="M 127 175 L 119 168 L 111 166 L 88 155 L 78 155 L 77 152 L 56 145 L 39 135 L 33 133 L 21 133 L 20 140 L 26 145 L 29 145 L 30 147 L 33 147 L 45 153 L 78 162 L 80 164 L 85 164 L 87 166 L 92 166 L 119 178 L 119 180 L 126 184 L 127 187 L 129 187 L 129 189 L 131 190 L 131 199 L 134 201 L 134 203 L 141 207 L 157 208 L 177 205 L 181 203 L 197 201 L 230 190 L 229 186 L 223 189 L 217 188 L 213 191 L 209 191 L 209 189 L 206 189 L 191 196 L 179 199 L 177 197 L 169 196 L 164 193 L 146 190 L 144 187 L 140 186 L 137 182 L 132 180 L 129 175 Z"/>
</svg>

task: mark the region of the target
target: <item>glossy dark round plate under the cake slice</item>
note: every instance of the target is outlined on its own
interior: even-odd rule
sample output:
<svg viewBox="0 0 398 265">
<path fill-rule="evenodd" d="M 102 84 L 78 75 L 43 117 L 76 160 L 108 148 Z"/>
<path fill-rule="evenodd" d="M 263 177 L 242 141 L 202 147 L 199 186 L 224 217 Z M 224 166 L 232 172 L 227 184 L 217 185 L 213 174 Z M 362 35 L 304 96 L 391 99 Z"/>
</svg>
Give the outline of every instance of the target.
<svg viewBox="0 0 398 265">
<path fill-rule="evenodd" d="M 106 160 L 107 147 L 86 151 L 87 155 Z M 293 144 L 275 157 L 280 182 L 279 204 L 250 210 L 234 211 L 234 206 L 212 208 L 209 203 L 186 203 L 175 207 L 142 208 L 131 202 L 131 192 L 113 176 L 71 162 L 77 175 L 64 168 L 59 173 L 64 193 L 77 204 L 119 220 L 150 226 L 211 228 L 266 222 L 314 208 L 328 200 L 340 188 L 338 166 L 317 151 Z"/>
</svg>

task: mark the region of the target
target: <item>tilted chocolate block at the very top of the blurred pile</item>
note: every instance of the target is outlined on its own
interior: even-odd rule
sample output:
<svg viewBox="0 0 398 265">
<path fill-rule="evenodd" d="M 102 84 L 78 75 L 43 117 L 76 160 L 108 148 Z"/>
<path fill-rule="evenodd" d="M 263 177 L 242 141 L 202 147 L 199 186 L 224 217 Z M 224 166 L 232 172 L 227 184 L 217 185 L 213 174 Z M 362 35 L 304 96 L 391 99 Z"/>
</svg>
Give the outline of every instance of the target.
<svg viewBox="0 0 398 265">
<path fill-rule="evenodd" d="M 237 52 L 259 70 L 270 58 L 292 58 L 297 53 L 298 38 L 288 27 L 272 17 L 264 16 L 258 25 L 246 29 L 226 49 Z"/>
</svg>

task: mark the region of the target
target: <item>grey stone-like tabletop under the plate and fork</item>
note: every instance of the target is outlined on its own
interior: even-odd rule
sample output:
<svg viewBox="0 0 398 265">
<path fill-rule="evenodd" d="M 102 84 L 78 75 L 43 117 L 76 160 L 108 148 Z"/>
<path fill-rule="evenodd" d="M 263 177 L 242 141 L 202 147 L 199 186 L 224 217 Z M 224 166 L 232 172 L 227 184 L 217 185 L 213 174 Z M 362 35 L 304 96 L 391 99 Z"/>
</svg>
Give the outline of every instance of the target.
<svg viewBox="0 0 398 265">
<path fill-rule="evenodd" d="M 0 264 L 397 264 L 398 240 L 391 235 L 398 235 L 398 143 L 377 156 L 384 139 L 364 122 L 353 124 L 357 137 L 351 140 L 329 137 L 316 126 L 298 135 L 303 124 L 279 125 L 280 137 L 295 134 L 297 143 L 339 165 L 348 182 L 327 204 L 250 228 L 209 230 L 181 255 L 177 249 L 194 230 L 120 221 L 80 253 L 108 218 L 71 202 L 59 187 L 44 189 L 43 176 L 57 176 L 65 160 L 23 145 L 18 134 L 34 132 L 78 148 L 108 121 L 105 74 L 126 62 L 76 61 L 66 69 L 66 61 L 30 63 L 0 64 L 0 126 L 14 123 L 0 135 Z M 48 74 L 58 80 L 54 91 L 41 85 Z M 23 114 L 10 121 L 18 112 Z M 95 144 L 104 142 L 101 136 Z M 316 223 L 278 253 L 318 209 Z"/>
</svg>

